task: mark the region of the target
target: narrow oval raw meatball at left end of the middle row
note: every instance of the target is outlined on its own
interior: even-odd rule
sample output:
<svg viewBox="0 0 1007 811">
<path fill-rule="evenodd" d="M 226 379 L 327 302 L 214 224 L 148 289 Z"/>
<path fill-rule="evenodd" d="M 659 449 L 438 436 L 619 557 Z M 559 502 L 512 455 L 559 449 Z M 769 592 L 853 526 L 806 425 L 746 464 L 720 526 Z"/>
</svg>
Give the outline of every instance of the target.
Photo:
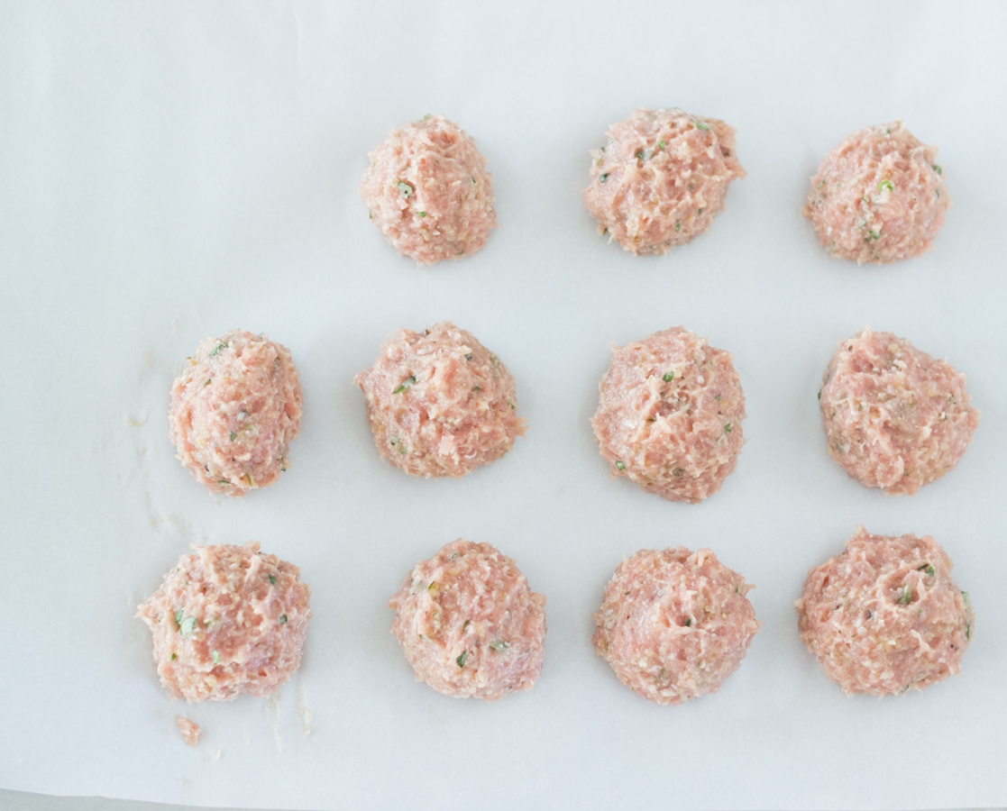
<svg viewBox="0 0 1007 811">
<path fill-rule="evenodd" d="M 290 467 L 301 428 L 301 383 L 290 350 L 232 330 L 199 344 L 171 387 L 168 436 L 211 493 L 244 496 Z"/>
</svg>

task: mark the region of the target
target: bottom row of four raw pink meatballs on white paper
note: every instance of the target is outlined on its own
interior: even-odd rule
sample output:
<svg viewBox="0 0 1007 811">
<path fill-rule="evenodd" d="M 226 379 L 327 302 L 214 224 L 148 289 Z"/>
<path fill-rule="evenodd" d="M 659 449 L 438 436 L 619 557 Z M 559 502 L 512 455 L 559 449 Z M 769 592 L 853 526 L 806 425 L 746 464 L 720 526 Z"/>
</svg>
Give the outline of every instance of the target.
<svg viewBox="0 0 1007 811">
<path fill-rule="evenodd" d="M 929 536 L 858 526 L 841 554 L 809 573 L 795 603 L 801 639 L 847 693 L 900 694 L 958 673 L 974 615 L 951 569 Z M 255 542 L 182 555 L 139 608 L 162 684 L 199 701 L 263 696 L 283 683 L 311 617 L 299 574 Z M 752 588 L 710 549 L 638 551 L 605 587 L 595 652 L 658 703 L 716 692 L 758 631 Z M 538 679 L 545 604 L 512 558 L 462 538 L 418 562 L 389 601 L 417 680 L 486 700 Z"/>
</svg>

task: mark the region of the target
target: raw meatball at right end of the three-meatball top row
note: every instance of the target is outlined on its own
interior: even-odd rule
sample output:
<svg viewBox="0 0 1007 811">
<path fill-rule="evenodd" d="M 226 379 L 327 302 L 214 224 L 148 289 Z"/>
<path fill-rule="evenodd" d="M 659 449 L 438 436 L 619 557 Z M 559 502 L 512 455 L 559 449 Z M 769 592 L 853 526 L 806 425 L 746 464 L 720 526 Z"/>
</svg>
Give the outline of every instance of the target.
<svg viewBox="0 0 1007 811">
<path fill-rule="evenodd" d="M 825 156 L 805 216 L 834 259 L 886 264 L 933 248 L 951 205 L 937 154 L 895 121 L 855 132 Z"/>
</svg>

